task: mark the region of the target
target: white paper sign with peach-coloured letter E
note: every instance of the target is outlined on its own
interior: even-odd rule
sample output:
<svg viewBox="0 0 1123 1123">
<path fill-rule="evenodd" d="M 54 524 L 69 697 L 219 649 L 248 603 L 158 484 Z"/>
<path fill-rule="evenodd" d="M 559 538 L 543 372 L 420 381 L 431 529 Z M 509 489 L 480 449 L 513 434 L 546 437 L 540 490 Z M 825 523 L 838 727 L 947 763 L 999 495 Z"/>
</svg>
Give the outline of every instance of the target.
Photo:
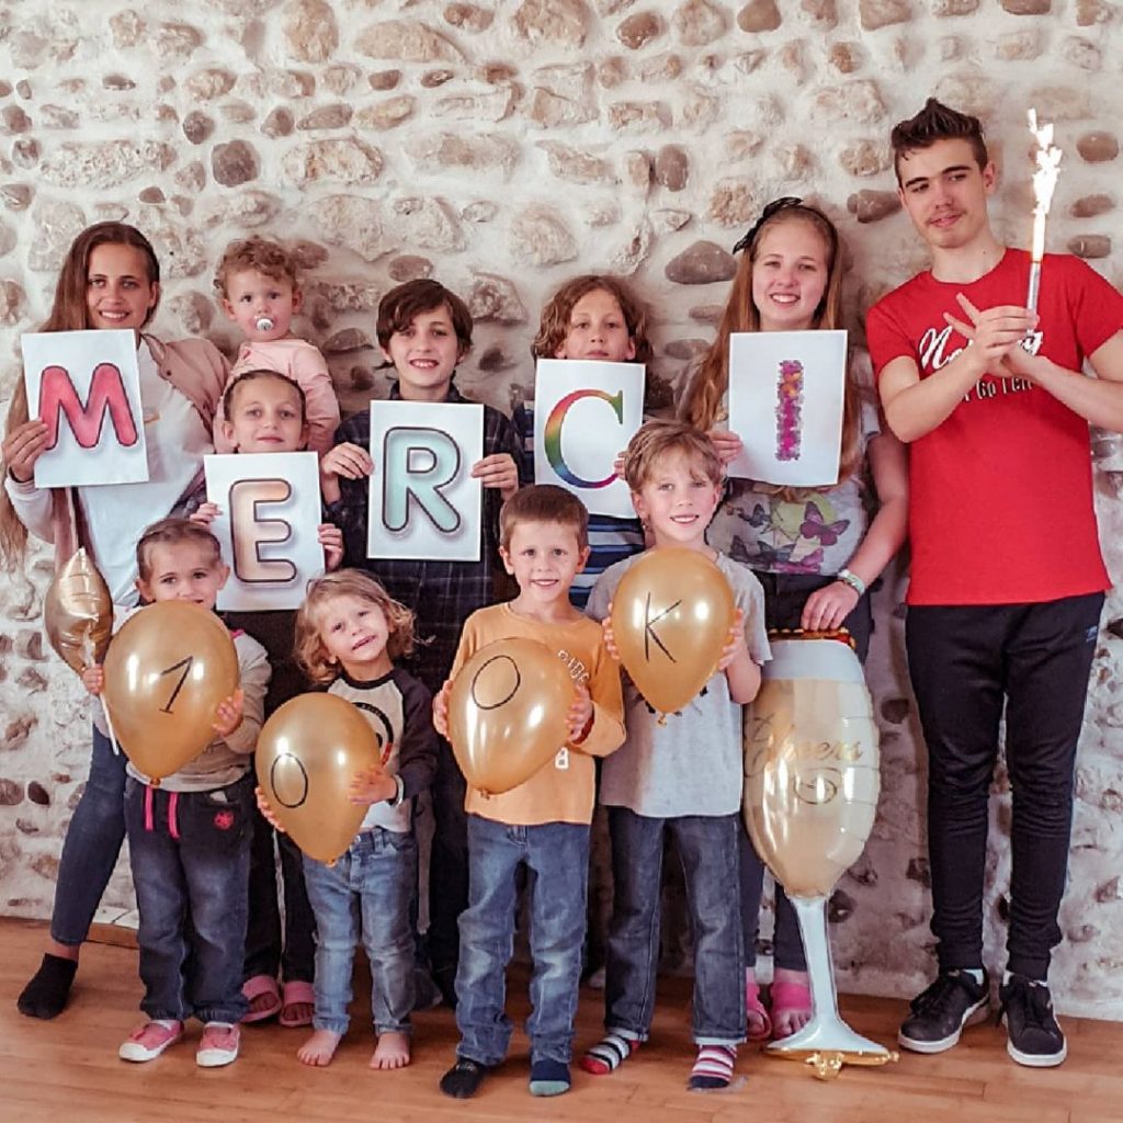
<svg viewBox="0 0 1123 1123">
<path fill-rule="evenodd" d="M 299 609 L 323 573 L 316 453 L 204 456 L 203 468 L 207 499 L 221 511 L 211 530 L 230 566 L 218 608 Z"/>
</svg>

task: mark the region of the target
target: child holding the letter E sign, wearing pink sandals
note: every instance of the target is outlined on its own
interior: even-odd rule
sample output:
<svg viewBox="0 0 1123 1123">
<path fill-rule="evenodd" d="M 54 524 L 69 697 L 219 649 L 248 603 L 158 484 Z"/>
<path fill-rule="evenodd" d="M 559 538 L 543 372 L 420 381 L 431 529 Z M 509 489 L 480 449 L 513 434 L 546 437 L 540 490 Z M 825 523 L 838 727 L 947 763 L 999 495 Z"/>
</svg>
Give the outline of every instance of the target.
<svg viewBox="0 0 1123 1123">
<path fill-rule="evenodd" d="M 310 431 L 304 391 L 287 375 L 270 369 L 244 371 L 234 377 L 222 395 L 221 417 L 214 422 L 216 439 L 235 453 L 246 454 L 301 451 L 308 447 Z M 209 527 L 220 513 L 217 504 L 202 503 L 191 519 Z M 343 532 L 330 522 L 320 523 L 318 532 L 325 566 L 335 569 L 343 558 Z M 226 621 L 231 628 L 244 628 L 268 652 L 273 677 L 265 696 L 266 718 L 308 688 L 294 656 L 295 611 L 227 612 Z M 274 837 L 284 894 L 283 930 Z M 300 850 L 286 834 L 275 836 L 268 822 L 255 813 L 243 986 L 249 1012 L 243 1021 L 280 1015 L 284 1026 L 312 1023 L 313 926 Z M 283 976 L 282 989 L 277 987 L 279 974 Z"/>
</svg>

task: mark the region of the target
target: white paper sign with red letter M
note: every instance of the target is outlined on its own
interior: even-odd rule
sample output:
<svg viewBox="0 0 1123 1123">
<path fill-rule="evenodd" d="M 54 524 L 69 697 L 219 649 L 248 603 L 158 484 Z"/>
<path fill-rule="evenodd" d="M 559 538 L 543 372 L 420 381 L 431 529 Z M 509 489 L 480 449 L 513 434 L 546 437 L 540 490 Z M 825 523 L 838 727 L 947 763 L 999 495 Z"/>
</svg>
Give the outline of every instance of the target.
<svg viewBox="0 0 1123 1123">
<path fill-rule="evenodd" d="M 40 331 L 20 340 L 28 412 L 47 427 L 36 487 L 148 478 L 131 331 Z"/>
</svg>

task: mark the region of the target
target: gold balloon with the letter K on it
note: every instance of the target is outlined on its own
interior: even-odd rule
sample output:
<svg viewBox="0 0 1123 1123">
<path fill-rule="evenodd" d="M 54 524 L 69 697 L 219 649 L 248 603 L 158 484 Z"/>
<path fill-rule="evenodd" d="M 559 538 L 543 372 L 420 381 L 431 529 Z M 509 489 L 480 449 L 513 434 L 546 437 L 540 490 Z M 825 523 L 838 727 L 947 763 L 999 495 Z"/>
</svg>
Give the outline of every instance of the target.
<svg viewBox="0 0 1123 1123">
<path fill-rule="evenodd" d="M 612 636 L 636 688 L 677 713 L 718 669 L 737 605 L 725 575 L 700 550 L 650 550 L 612 596 Z"/>
</svg>

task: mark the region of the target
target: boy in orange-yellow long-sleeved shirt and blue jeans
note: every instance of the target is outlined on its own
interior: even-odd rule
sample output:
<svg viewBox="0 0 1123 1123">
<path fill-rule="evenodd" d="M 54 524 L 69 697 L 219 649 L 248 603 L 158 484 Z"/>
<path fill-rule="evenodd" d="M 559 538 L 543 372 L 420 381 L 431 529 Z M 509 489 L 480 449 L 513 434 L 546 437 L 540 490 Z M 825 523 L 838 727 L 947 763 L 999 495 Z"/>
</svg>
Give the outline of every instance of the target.
<svg viewBox="0 0 1123 1123">
<path fill-rule="evenodd" d="M 528 877 L 530 952 L 533 966 L 527 1021 L 530 1092 L 556 1096 L 569 1090 L 569 1059 L 581 979 L 588 877 L 588 834 L 594 801 L 594 757 L 623 740 L 620 675 L 600 629 L 569 602 L 574 577 L 588 557 L 587 512 L 562 487 L 524 487 L 503 504 L 500 550 L 519 595 L 474 612 L 464 626 L 449 682 L 433 704 L 433 722 L 448 736 L 451 683 L 472 656 L 509 639 L 533 640 L 574 685 L 565 714 L 568 737 L 553 759 L 529 779 L 497 794 L 468 775 L 468 907 L 460 915 L 460 965 L 456 974 L 456 1063 L 440 1090 L 457 1099 L 476 1093 L 506 1056 L 511 1022 L 503 1012 L 505 971 L 511 959 L 520 868 Z M 514 664 L 518 668 L 518 664 Z M 518 678 L 515 682 L 518 683 Z M 522 692 L 524 693 L 524 692 Z M 526 703 L 527 712 L 518 706 Z M 504 703 L 509 721 L 526 723 L 518 745 L 492 746 L 500 754 L 526 751 L 521 742 L 550 716 L 540 718 L 535 697 L 517 686 Z M 547 747 L 553 751 L 553 747 Z"/>
</svg>

